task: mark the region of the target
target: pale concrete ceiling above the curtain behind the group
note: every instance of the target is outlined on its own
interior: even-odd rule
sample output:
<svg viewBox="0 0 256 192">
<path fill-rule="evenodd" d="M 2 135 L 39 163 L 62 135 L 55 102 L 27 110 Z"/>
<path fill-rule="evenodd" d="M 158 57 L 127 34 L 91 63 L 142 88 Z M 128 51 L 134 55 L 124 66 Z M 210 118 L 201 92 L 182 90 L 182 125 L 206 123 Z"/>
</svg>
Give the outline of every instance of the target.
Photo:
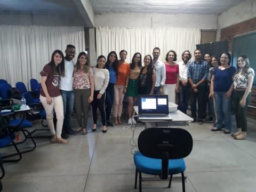
<svg viewBox="0 0 256 192">
<path fill-rule="evenodd" d="M 245 0 L 91 0 L 94 13 L 220 14 Z"/>
</svg>

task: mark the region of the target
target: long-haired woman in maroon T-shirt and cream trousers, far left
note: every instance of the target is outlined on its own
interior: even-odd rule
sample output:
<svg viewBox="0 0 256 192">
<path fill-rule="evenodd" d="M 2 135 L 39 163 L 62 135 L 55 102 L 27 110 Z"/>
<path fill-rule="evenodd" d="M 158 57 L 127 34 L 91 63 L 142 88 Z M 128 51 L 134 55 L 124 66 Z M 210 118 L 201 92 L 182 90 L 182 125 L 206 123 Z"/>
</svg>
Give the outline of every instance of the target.
<svg viewBox="0 0 256 192">
<path fill-rule="evenodd" d="M 64 76 L 64 55 L 60 50 L 55 50 L 52 53 L 51 61 L 44 66 L 40 75 L 41 79 L 41 95 L 40 100 L 46 112 L 46 119 L 49 129 L 52 134 L 52 143 L 67 144 L 68 141 L 61 138 L 61 131 L 63 125 L 63 102 L 59 90 L 60 75 Z M 53 110 L 57 117 L 57 127 L 54 130 L 53 124 Z"/>
</svg>

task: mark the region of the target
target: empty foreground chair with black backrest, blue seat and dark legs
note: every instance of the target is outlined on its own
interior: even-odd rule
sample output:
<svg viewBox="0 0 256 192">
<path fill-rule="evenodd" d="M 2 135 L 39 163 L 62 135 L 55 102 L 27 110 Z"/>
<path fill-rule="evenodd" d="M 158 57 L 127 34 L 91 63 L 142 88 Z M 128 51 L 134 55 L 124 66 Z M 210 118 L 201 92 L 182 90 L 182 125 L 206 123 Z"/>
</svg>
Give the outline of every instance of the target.
<svg viewBox="0 0 256 192">
<path fill-rule="evenodd" d="M 134 155 L 136 166 L 135 185 L 139 173 L 139 191 L 141 192 L 141 173 L 159 175 L 160 179 L 167 179 L 170 175 L 181 173 L 182 191 L 185 192 L 184 171 L 187 157 L 193 148 L 193 139 L 190 133 L 180 128 L 153 127 L 143 130 L 138 139 L 139 151 Z"/>
</svg>

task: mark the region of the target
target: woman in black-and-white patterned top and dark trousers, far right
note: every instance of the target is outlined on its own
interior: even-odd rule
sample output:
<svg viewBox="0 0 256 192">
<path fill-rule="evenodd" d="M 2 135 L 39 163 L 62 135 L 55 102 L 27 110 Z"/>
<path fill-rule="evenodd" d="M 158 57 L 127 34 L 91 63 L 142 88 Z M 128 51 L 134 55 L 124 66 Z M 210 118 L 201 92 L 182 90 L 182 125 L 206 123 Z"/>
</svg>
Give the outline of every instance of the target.
<svg viewBox="0 0 256 192">
<path fill-rule="evenodd" d="M 249 59 L 241 55 L 237 59 L 237 71 L 233 78 L 234 92 L 232 100 L 236 113 L 237 132 L 231 134 L 234 139 L 246 139 L 247 119 L 246 110 L 251 100 L 251 89 L 254 70 L 249 67 Z"/>
</svg>

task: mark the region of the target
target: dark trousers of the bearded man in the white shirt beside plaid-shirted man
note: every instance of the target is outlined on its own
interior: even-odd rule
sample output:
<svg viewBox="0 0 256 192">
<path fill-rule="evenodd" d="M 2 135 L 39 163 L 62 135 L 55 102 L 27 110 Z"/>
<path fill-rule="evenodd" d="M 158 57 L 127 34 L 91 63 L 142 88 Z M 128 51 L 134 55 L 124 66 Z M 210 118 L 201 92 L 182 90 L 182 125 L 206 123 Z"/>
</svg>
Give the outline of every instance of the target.
<svg viewBox="0 0 256 192">
<path fill-rule="evenodd" d="M 189 98 L 189 85 L 183 86 L 180 84 L 179 86 L 179 106 L 178 109 L 183 113 L 187 114 L 188 109 L 188 98 Z"/>
</svg>

